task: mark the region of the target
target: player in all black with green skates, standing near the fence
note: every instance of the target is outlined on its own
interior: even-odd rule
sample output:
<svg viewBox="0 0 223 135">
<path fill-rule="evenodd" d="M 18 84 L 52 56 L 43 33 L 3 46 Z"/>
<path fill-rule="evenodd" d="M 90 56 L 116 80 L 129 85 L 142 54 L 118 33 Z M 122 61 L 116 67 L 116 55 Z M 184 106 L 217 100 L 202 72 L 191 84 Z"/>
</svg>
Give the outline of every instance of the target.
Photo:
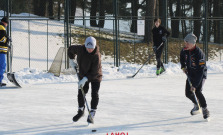
<svg viewBox="0 0 223 135">
<path fill-rule="evenodd" d="M 170 32 L 165 27 L 161 26 L 161 20 L 159 18 L 154 19 L 155 27 L 152 29 L 153 33 L 153 51 L 156 54 L 157 70 L 156 75 L 160 75 L 165 71 L 163 63 L 161 61 L 161 55 L 164 48 L 164 43 L 170 35 Z"/>
</svg>

